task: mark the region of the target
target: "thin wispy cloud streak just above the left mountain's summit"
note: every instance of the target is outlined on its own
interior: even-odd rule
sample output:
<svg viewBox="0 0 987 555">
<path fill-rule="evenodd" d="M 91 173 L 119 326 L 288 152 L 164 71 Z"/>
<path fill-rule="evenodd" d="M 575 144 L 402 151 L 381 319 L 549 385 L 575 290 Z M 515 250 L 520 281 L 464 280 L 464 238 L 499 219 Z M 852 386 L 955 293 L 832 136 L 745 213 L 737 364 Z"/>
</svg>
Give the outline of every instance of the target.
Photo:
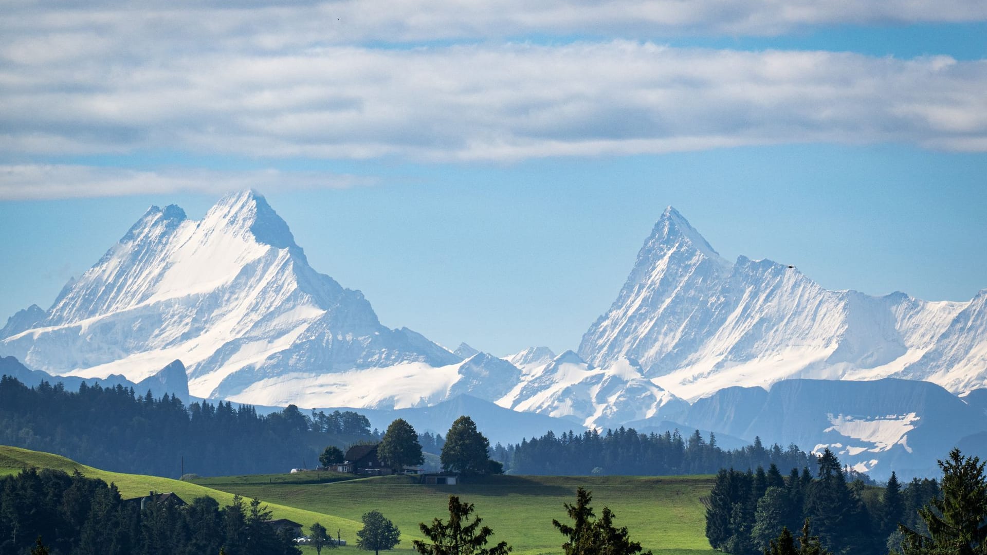
<svg viewBox="0 0 987 555">
<path fill-rule="evenodd" d="M 343 189 L 372 185 L 372 178 L 317 172 L 135 171 L 79 165 L 0 165 L 0 200 L 120 197 L 262 189 Z"/>
</svg>

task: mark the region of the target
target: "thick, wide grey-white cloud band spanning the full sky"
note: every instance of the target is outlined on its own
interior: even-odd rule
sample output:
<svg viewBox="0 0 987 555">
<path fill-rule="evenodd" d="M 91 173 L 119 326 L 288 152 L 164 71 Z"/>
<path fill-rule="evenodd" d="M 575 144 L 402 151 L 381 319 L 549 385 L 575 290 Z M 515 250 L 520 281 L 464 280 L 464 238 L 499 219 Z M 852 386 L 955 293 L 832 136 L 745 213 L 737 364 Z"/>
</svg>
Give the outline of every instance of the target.
<svg viewBox="0 0 987 555">
<path fill-rule="evenodd" d="M 987 61 L 615 40 L 86 58 L 0 72 L 0 149 L 517 160 L 793 142 L 982 151 Z"/>
</svg>

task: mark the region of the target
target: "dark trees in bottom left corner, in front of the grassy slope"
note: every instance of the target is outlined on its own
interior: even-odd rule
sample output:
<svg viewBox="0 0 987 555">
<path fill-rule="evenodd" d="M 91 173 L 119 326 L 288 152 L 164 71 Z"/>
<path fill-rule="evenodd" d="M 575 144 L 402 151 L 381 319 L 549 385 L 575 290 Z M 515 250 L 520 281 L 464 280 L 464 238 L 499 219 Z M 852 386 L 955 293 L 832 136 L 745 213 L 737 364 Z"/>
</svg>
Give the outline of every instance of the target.
<svg viewBox="0 0 987 555">
<path fill-rule="evenodd" d="M 258 500 L 220 508 L 124 501 L 114 485 L 78 472 L 28 469 L 0 480 L 0 553 L 64 555 L 298 555 L 293 538 L 270 525 Z"/>
</svg>

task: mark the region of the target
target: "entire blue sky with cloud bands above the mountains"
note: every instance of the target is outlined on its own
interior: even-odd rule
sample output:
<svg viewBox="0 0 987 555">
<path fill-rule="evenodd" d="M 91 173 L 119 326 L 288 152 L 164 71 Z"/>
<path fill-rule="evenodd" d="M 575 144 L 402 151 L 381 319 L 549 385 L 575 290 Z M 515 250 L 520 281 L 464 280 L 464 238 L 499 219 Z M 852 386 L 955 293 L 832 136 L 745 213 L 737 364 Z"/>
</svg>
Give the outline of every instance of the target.
<svg viewBox="0 0 987 555">
<path fill-rule="evenodd" d="M 33 2 L 0 18 L 0 321 L 253 188 L 382 323 L 575 349 L 674 205 L 825 287 L 987 287 L 987 3 Z"/>
</svg>

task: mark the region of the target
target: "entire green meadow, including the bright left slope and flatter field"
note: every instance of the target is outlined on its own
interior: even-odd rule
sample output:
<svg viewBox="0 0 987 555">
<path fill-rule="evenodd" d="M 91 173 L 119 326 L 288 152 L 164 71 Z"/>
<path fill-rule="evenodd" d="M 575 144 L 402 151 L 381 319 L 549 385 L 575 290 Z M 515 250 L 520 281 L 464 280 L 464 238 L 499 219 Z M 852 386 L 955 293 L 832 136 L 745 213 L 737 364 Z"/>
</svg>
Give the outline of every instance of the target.
<svg viewBox="0 0 987 555">
<path fill-rule="evenodd" d="M 704 534 L 706 510 L 702 498 L 713 487 L 712 476 L 493 476 L 457 486 L 425 486 L 412 477 L 346 479 L 346 475 L 307 472 L 229 476 L 196 479 L 194 483 L 107 472 L 67 458 L 0 446 L 0 475 L 29 466 L 57 468 L 114 482 L 124 498 L 146 495 L 150 490 L 175 492 L 187 501 L 210 496 L 228 505 L 234 494 L 259 498 L 274 517 L 290 518 L 306 526 L 322 522 L 350 544 L 361 527 L 360 516 L 377 510 L 402 531 L 397 552 L 410 553 L 413 539 L 421 538 L 418 522 L 447 517 L 448 496 L 474 504 L 476 514 L 494 531 L 493 540 L 505 540 L 519 555 L 559 554 L 563 536 L 552 519 L 566 520 L 564 503 L 575 500 L 582 486 L 592 492 L 592 507 L 599 515 L 604 506 L 616 515 L 615 523 L 627 526 L 632 539 L 655 555 L 710 554 Z M 305 548 L 305 553 L 315 553 Z M 352 552 L 350 546 L 332 552 Z M 326 553 L 324 550 L 323 553 Z"/>
</svg>

